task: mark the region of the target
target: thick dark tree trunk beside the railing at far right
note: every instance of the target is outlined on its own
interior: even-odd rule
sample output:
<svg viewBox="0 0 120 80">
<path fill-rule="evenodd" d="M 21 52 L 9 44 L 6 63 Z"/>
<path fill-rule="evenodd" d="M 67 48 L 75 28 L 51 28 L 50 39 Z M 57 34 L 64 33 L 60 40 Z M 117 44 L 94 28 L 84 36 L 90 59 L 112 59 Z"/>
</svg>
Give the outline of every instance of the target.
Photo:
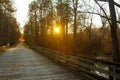
<svg viewBox="0 0 120 80">
<path fill-rule="evenodd" d="M 119 42 L 117 37 L 117 22 L 116 22 L 116 13 L 114 7 L 114 1 L 109 0 L 109 7 L 110 7 L 110 16 L 111 16 L 111 38 L 113 43 L 113 61 L 120 63 L 120 52 L 119 52 Z"/>
</svg>

